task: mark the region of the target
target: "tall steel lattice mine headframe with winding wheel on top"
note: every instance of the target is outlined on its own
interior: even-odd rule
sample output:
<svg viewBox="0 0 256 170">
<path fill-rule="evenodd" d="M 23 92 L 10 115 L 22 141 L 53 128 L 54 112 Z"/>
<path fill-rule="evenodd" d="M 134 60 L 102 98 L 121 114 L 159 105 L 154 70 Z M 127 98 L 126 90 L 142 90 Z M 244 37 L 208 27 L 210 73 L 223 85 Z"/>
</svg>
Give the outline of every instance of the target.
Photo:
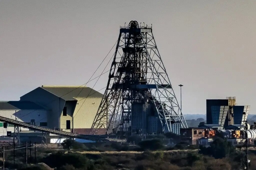
<svg viewBox="0 0 256 170">
<path fill-rule="evenodd" d="M 107 88 L 90 134 L 102 130 L 107 134 L 117 130 L 133 132 L 134 128 L 146 133 L 145 129 L 156 129 L 157 123 L 161 132 L 174 131 L 174 125 L 187 127 L 157 49 L 152 25 L 139 26 L 137 21 L 131 21 L 120 27 Z"/>
</svg>

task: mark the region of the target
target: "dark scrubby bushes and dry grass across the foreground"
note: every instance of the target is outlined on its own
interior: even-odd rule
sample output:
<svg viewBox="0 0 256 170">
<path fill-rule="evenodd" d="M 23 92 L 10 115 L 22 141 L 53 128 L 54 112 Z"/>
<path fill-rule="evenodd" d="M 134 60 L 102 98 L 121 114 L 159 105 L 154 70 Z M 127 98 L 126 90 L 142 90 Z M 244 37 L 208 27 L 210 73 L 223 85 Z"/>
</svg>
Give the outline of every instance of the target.
<svg viewBox="0 0 256 170">
<path fill-rule="evenodd" d="M 12 155 L 7 155 L 5 167 L 18 170 L 239 170 L 240 153 L 222 138 L 210 147 L 179 143 L 164 147 L 162 140 L 152 138 L 137 146 L 118 143 L 80 144 L 73 140 L 62 143 L 61 149 L 38 147 L 37 162 L 24 166 L 20 155 L 13 166 Z M 122 152 L 120 152 L 122 151 Z M 20 152 L 20 153 L 19 153 Z M 250 150 L 250 170 L 256 170 L 256 151 Z"/>
</svg>

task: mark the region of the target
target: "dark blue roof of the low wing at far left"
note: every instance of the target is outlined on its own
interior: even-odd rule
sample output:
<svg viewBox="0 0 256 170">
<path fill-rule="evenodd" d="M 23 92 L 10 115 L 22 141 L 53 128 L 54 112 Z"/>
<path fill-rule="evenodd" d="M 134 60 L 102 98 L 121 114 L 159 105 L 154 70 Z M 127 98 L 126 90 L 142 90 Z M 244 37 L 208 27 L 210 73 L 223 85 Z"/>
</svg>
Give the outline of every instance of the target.
<svg viewBox="0 0 256 170">
<path fill-rule="evenodd" d="M 0 110 L 44 110 L 44 108 L 30 101 L 1 101 Z"/>
</svg>

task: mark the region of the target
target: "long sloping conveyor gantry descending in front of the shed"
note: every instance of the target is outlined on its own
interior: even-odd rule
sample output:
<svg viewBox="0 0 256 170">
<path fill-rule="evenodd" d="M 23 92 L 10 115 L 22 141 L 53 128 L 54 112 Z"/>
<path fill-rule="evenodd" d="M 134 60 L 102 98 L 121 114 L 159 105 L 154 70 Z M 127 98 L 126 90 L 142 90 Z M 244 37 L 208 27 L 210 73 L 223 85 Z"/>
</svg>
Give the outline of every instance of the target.
<svg viewBox="0 0 256 170">
<path fill-rule="evenodd" d="M 57 135 L 60 135 L 60 136 L 66 136 L 66 137 L 71 137 L 71 138 L 79 138 L 79 139 L 93 140 L 93 141 L 99 141 L 99 142 L 126 142 L 125 139 L 102 138 L 102 137 L 98 137 L 98 136 L 95 136 L 95 135 L 75 134 L 75 133 L 72 133 L 72 132 L 65 132 L 65 131 L 61 131 L 61 130 L 55 130 L 55 129 L 52 129 L 52 128 L 30 125 L 28 123 L 24 123 L 24 122 L 21 122 L 21 121 L 16 121 L 16 120 L 9 119 L 9 118 L 2 117 L 2 116 L 0 116 L 0 121 L 6 122 L 6 123 L 9 123 L 9 124 L 12 124 L 12 125 L 16 125 L 16 126 L 19 126 L 19 127 L 29 128 L 29 129 L 33 129 L 33 130 L 41 131 L 41 132 L 49 132 L 51 134 L 57 134 Z"/>
</svg>

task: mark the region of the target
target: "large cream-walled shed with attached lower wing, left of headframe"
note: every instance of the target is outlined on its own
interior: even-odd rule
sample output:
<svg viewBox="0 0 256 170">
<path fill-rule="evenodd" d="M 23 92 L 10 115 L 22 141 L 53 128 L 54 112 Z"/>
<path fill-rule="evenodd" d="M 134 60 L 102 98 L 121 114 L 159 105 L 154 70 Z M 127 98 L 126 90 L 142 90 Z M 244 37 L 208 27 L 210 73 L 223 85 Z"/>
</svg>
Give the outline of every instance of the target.
<svg viewBox="0 0 256 170">
<path fill-rule="evenodd" d="M 90 87 L 42 85 L 20 97 L 20 101 L 0 102 L 0 116 L 31 125 L 88 134 L 102 96 Z M 18 129 L 19 132 L 24 130 L 29 129 Z M 14 126 L 3 128 L 3 123 L 0 123 L 0 135 L 6 135 L 7 131 L 14 132 Z"/>
</svg>

